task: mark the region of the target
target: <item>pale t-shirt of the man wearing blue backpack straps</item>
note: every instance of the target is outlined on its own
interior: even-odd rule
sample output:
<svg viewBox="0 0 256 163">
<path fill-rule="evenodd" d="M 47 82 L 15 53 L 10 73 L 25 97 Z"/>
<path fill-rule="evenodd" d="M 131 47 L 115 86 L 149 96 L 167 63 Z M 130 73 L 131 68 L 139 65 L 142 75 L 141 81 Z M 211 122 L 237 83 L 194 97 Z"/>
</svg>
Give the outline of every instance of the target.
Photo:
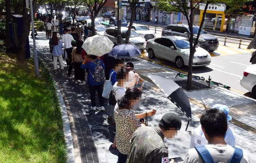
<svg viewBox="0 0 256 163">
<path fill-rule="evenodd" d="M 214 163 L 228 163 L 234 153 L 234 148 L 230 145 L 205 145 L 212 156 Z M 203 163 L 203 159 L 199 156 L 195 148 L 191 148 L 185 155 L 183 163 Z M 243 151 L 243 158 L 240 163 L 250 163 L 247 154 Z"/>
</svg>

